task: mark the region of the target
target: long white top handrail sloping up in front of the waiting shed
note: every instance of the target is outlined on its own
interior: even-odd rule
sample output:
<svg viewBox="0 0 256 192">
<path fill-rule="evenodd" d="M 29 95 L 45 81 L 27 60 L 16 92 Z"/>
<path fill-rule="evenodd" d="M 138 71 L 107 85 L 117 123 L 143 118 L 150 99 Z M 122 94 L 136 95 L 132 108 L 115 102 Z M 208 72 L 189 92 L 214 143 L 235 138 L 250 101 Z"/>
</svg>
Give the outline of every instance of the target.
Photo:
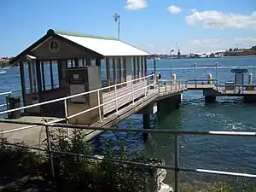
<svg viewBox="0 0 256 192">
<path fill-rule="evenodd" d="M 79 93 L 79 94 L 76 94 L 76 95 L 73 95 L 73 96 L 65 96 L 65 97 L 61 97 L 61 98 L 58 98 L 58 99 L 50 100 L 50 101 L 47 101 L 47 102 L 39 102 L 39 103 L 36 103 L 36 104 L 32 104 L 32 105 L 28 105 L 28 106 L 25 106 L 25 107 L 21 107 L 21 108 L 10 109 L 10 110 L 7 110 L 7 111 L 0 112 L 0 114 L 11 113 L 11 112 L 14 112 L 14 111 L 17 111 L 17 110 L 26 109 L 26 108 L 33 108 L 33 107 L 37 107 L 37 106 L 41 106 L 41 105 L 45 105 L 45 104 L 49 104 L 49 103 L 53 103 L 53 102 L 61 102 L 61 101 L 64 101 L 64 100 L 67 100 L 67 99 L 71 99 L 71 98 L 76 97 L 76 96 L 84 96 L 84 95 L 88 95 L 90 93 L 94 93 L 96 91 L 101 91 L 101 90 L 106 90 L 106 89 L 109 89 L 109 88 L 113 88 L 114 86 L 119 86 L 119 85 L 122 85 L 122 84 L 127 84 L 127 83 L 131 83 L 131 82 L 135 82 L 135 81 L 140 80 L 140 79 L 147 79 L 148 77 L 151 77 L 151 76 L 154 76 L 154 74 L 148 75 L 146 77 L 139 78 L 139 79 L 132 79 L 132 80 L 126 81 L 124 83 L 113 84 L 113 85 L 110 85 L 108 87 L 102 87 L 102 88 L 97 89 L 97 90 L 90 90 L 90 91 L 87 91 L 87 92 L 84 92 L 84 93 Z"/>
</svg>

